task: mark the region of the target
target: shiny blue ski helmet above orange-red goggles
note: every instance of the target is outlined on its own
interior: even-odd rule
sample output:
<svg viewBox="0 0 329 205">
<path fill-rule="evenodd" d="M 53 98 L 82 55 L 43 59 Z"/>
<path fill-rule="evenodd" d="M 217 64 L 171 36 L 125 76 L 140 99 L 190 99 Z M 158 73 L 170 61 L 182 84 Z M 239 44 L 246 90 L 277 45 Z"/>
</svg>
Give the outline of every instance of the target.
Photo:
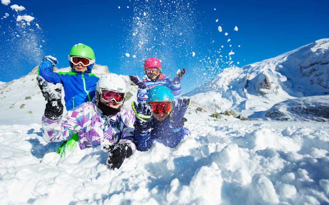
<svg viewBox="0 0 329 205">
<path fill-rule="evenodd" d="M 164 85 L 157 85 L 147 92 L 147 102 L 172 102 L 174 95 L 171 90 Z"/>
</svg>

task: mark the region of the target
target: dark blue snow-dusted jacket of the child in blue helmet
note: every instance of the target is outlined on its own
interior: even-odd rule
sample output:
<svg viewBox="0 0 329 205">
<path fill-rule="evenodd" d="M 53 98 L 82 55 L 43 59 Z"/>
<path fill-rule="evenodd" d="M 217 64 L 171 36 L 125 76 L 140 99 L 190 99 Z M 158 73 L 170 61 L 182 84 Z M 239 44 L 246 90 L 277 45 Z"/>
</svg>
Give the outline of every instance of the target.
<svg viewBox="0 0 329 205">
<path fill-rule="evenodd" d="M 190 135 L 190 131 L 184 128 L 183 125 L 184 123 L 182 123 L 182 127 L 174 129 L 170 126 L 170 117 L 160 122 L 153 116 L 143 126 L 144 128 L 138 129 L 135 125 L 134 140 L 137 150 L 148 150 L 154 140 L 164 144 L 166 147 L 175 147 L 185 135 Z"/>
</svg>

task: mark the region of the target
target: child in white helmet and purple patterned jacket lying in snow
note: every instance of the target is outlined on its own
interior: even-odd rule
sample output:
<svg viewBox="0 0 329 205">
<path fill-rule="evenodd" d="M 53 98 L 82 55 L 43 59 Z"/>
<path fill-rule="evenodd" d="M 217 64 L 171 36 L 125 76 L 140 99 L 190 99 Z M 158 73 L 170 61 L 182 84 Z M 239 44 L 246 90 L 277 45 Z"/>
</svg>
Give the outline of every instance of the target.
<svg viewBox="0 0 329 205">
<path fill-rule="evenodd" d="M 77 133 L 80 149 L 99 146 L 108 152 L 110 169 L 119 169 L 124 159 L 136 150 L 133 142 L 135 115 L 123 107 L 126 83 L 115 74 L 102 76 L 96 85 L 96 96 L 63 115 L 61 89 L 50 89 L 48 83 L 37 77 L 39 88 L 47 101 L 42 116 L 43 138 L 60 142 Z M 60 85 L 60 84 L 57 84 Z M 56 86 L 57 86 L 56 85 Z M 73 136 L 73 135 L 72 135 Z"/>
</svg>

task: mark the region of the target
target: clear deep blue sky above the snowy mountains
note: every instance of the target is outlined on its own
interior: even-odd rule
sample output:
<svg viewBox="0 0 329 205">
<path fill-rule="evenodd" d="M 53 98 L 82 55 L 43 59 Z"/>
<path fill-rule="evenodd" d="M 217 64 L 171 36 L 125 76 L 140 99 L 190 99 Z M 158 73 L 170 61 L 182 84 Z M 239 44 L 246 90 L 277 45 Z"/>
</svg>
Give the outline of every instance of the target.
<svg viewBox="0 0 329 205">
<path fill-rule="evenodd" d="M 225 56 L 231 50 L 235 52 L 231 65 L 240 67 L 329 37 L 329 1 L 325 0 L 175 2 L 12 0 L 8 6 L 0 4 L 0 15 L 9 13 L 0 20 L 0 81 L 26 75 L 48 54 L 58 58 L 59 68 L 68 67 L 70 48 L 84 43 L 95 51 L 97 64 L 117 74 L 141 77 L 142 62 L 150 56 L 162 59 L 163 72 L 170 77 L 185 67 L 182 90 L 188 92 L 229 67 Z M 10 8 L 13 4 L 26 10 L 17 13 Z M 35 19 L 24 26 L 24 21 L 16 24 L 17 15 Z M 235 26 L 239 31 L 233 30 Z"/>
</svg>

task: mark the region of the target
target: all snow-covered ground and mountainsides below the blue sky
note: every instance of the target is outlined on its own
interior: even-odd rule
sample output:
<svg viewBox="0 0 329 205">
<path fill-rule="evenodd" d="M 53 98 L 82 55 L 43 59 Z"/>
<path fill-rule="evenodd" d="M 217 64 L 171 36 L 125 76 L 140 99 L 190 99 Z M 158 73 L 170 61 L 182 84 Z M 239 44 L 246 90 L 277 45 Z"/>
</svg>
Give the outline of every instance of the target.
<svg viewBox="0 0 329 205">
<path fill-rule="evenodd" d="M 60 143 L 44 141 L 38 67 L 0 82 L 0 204 L 328 204 L 328 47 L 321 39 L 225 69 L 186 94 L 189 136 L 135 151 L 118 170 L 101 146 L 60 158 Z M 121 76 L 129 106 L 137 86 Z M 240 116 L 221 114 L 231 109 Z"/>
</svg>

